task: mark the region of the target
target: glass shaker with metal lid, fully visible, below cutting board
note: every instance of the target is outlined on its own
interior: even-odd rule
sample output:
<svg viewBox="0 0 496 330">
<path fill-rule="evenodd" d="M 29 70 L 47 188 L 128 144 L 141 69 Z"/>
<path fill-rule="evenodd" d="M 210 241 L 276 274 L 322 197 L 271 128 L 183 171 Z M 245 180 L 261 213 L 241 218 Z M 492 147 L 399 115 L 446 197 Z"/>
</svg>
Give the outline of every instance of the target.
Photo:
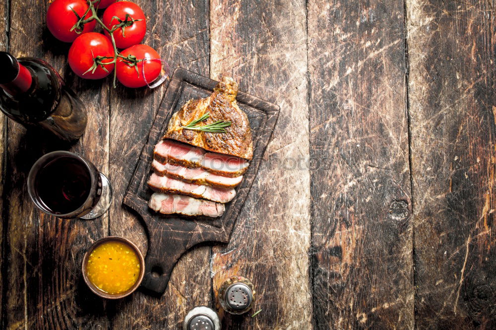
<svg viewBox="0 0 496 330">
<path fill-rule="evenodd" d="M 244 314 L 253 307 L 254 301 L 255 288 L 246 277 L 230 277 L 220 287 L 219 302 L 228 313 Z"/>
</svg>

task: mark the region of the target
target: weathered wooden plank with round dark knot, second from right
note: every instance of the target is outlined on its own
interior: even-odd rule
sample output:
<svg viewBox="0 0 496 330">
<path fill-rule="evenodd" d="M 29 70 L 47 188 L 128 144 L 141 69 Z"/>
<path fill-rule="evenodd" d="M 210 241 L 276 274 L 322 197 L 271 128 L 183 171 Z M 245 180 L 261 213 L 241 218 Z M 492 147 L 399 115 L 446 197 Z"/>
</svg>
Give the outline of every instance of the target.
<svg viewBox="0 0 496 330">
<path fill-rule="evenodd" d="M 413 329 L 403 1 L 309 1 L 315 329 Z"/>
</svg>

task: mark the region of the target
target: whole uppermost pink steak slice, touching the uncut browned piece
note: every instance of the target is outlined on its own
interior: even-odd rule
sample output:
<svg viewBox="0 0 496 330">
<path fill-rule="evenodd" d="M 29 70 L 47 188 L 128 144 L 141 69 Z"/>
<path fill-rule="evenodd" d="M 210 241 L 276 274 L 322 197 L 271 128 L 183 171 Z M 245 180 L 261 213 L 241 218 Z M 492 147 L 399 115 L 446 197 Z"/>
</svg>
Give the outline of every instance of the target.
<svg viewBox="0 0 496 330">
<path fill-rule="evenodd" d="M 206 153 L 184 143 L 163 140 L 157 143 L 153 157 L 162 164 L 170 163 L 203 169 L 222 176 L 237 177 L 245 173 L 249 163 L 243 158 L 217 153 Z"/>
</svg>

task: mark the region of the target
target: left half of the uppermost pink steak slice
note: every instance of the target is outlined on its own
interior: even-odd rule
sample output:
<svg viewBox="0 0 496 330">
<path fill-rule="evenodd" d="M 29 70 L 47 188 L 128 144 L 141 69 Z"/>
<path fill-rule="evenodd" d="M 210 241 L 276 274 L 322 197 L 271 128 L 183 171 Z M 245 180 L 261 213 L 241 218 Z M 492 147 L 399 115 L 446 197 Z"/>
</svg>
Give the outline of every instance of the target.
<svg viewBox="0 0 496 330">
<path fill-rule="evenodd" d="M 162 140 L 155 145 L 154 158 L 160 163 L 183 165 L 190 168 L 200 167 L 205 151 L 181 142 Z"/>
</svg>

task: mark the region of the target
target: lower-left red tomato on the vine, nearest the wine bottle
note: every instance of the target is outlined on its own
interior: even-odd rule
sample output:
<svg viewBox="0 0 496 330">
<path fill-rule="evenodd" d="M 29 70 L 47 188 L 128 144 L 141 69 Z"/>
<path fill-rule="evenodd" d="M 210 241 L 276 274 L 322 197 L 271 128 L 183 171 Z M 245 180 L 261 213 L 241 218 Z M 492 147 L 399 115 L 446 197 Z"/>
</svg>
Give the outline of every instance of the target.
<svg viewBox="0 0 496 330">
<path fill-rule="evenodd" d="M 112 62 L 114 59 L 114 47 L 103 34 L 90 32 L 80 35 L 74 40 L 67 57 L 70 68 L 79 77 L 85 79 L 105 78 L 114 70 L 114 64 L 103 65 L 108 70 L 107 72 L 102 68 L 102 65 L 95 63 L 94 58 L 97 56 L 112 57 L 99 59 L 101 63 Z M 87 72 L 94 67 L 93 65 L 96 65 L 95 72 L 92 73 L 91 70 Z"/>
</svg>

